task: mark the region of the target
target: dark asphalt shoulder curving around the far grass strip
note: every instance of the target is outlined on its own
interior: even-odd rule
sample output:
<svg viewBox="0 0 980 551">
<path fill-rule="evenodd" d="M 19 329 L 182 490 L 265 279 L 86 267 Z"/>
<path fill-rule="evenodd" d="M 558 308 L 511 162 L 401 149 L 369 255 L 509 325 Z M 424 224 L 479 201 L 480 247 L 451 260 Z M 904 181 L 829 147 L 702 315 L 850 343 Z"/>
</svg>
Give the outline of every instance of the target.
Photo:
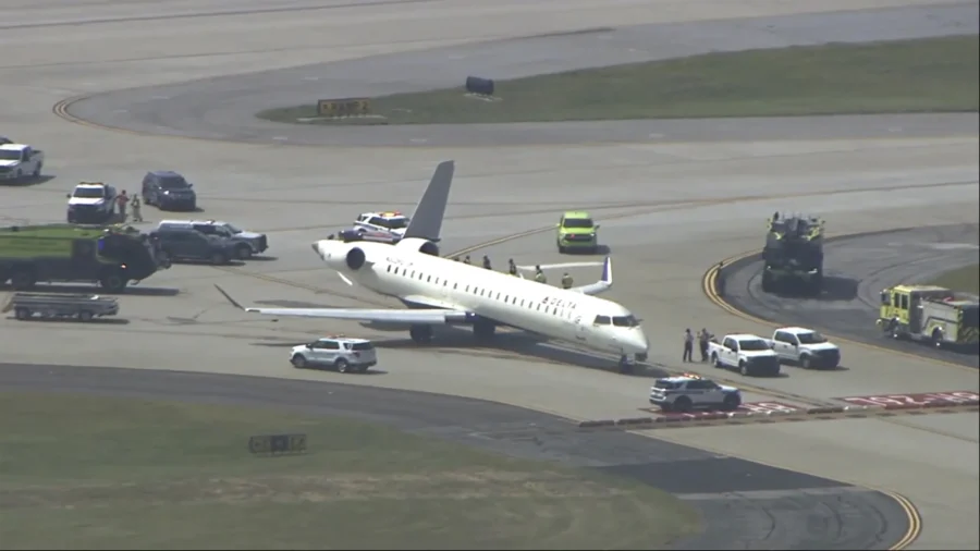
<svg viewBox="0 0 980 551">
<path fill-rule="evenodd" d="M 972 134 L 977 117 L 867 115 L 724 121 L 595 121 L 562 123 L 330 127 L 256 119 L 259 111 L 317 99 L 376 97 L 461 86 L 468 75 L 518 78 L 699 53 L 826 42 L 977 34 L 977 2 L 740 20 L 591 27 L 320 65 L 230 75 L 87 96 L 66 114 L 136 132 L 252 143 L 321 146 L 492 147 L 584 142 L 726 140 L 895 137 Z M 506 98 L 504 98 L 506 101 Z M 800 134 L 800 128 L 806 128 Z"/>
</svg>

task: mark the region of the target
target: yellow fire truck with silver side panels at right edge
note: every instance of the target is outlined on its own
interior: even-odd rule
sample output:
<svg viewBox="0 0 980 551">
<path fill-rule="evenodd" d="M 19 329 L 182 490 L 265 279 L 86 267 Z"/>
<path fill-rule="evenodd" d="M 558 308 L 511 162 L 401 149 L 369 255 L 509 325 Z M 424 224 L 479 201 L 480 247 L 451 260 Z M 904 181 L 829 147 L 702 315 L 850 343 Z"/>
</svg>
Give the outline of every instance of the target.
<svg viewBox="0 0 980 551">
<path fill-rule="evenodd" d="M 881 292 L 878 327 L 892 339 L 934 346 L 976 345 L 980 302 L 935 285 L 896 285 Z"/>
</svg>

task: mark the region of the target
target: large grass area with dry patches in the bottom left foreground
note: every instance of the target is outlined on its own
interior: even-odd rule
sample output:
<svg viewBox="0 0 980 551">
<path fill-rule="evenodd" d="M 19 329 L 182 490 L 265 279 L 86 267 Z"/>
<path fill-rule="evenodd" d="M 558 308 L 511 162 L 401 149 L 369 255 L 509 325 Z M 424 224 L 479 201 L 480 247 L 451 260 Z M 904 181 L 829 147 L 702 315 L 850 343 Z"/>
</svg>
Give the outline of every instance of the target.
<svg viewBox="0 0 980 551">
<path fill-rule="evenodd" d="M 304 432 L 296 456 L 253 434 Z M 2 547 L 659 548 L 697 529 L 625 479 L 266 409 L 0 393 Z"/>
</svg>

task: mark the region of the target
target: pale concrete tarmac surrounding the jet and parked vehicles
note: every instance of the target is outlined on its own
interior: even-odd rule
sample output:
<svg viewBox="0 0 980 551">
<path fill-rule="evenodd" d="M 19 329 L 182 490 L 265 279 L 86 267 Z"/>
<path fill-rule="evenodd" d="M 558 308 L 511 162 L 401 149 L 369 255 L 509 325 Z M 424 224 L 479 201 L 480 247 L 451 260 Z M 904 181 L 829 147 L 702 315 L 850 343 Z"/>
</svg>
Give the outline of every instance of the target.
<svg viewBox="0 0 980 551">
<path fill-rule="evenodd" d="M 46 151 L 48 176 L 33 185 L 0 187 L 0 217 L 12 223 L 62 220 L 63 194 L 77 181 L 103 180 L 132 191 L 145 171 L 166 168 L 195 182 L 203 211 L 185 216 L 145 208 L 146 228 L 164 217 L 223 219 L 267 232 L 271 249 L 266 259 L 246 266 L 176 266 L 155 274 L 122 297 L 120 320 L 91 325 L 0 320 L 0 350 L 8 362 L 0 367 L 4 387 L 183 400 L 217 395 L 266 404 L 293 400 L 280 396 L 302 395 L 304 407 L 317 407 L 328 415 L 336 413 L 330 406 L 341 400 L 335 396 L 344 394 L 350 407 L 340 409 L 347 415 L 402 423 L 400 426 L 409 430 L 466 441 L 465 433 L 495 433 L 515 425 L 526 430 L 535 424 L 548 427 L 531 433 L 549 444 L 535 445 L 534 451 L 527 443 L 469 440 L 474 445 L 499 445 L 499 451 L 515 455 L 549 455 L 547 458 L 554 461 L 617 469 L 682 494 L 697 504 L 706 518 L 702 537 L 708 539 L 686 542 L 690 548 L 980 546 L 976 525 L 980 516 L 976 434 L 980 429 L 976 414 L 691 427 L 642 434 L 583 432 L 553 417 L 636 417 L 648 405 L 652 376 L 696 370 L 719 377 L 702 364 L 679 362 L 684 327 L 703 326 L 718 334 L 771 332 L 774 323 L 736 317 L 706 299 L 702 278 L 719 260 L 760 248 L 763 221 L 773 210 L 819 212 L 836 234 L 976 225 L 976 113 L 880 118 L 874 123 L 850 118 L 716 124 L 672 121 L 661 126 L 667 128 L 669 139 L 648 136 L 637 143 L 602 143 L 601 136 L 597 139 L 558 127 L 547 131 L 558 137 L 542 145 L 507 142 L 491 147 L 491 138 L 486 138 L 485 147 L 443 148 L 436 147 L 441 130 L 434 128 L 419 136 L 430 142 L 409 143 L 409 147 L 392 147 L 405 145 L 392 142 L 394 138 L 380 139 L 385 147 L 341 146 L 329 142 L 334 139 L 331 136 L 323 138 L 323 146 L 290 147 L 294 142 L 304 145 L 303 139 L 293 138 L 299 134 L 293 133 L 314 128 L 280 125 L 278 135 L 287 139 L 265 134 L 273 139 L 262 143 L 264 134 L 252 126 L 256 123 L 245 117 L 242 107 L 252 106 L 257 97 L 275 96 L 274 74 L 265 73 L 264 81 L 245 81 L 247 86 L 237 88 L 228 84 L 232 81 L 220 78 L 314 63 L 321 65 L 317 71 L 326 71 L 322 64 L 327 62 L 369 61 L 372 56 L 414 51 L 424 79 L 429 71 L 425 66 L 444 63 L 445 50 L 436 49 L 444 46 L 505 42 L 514 37 L 598 27 L 614 28 L 615 35 L 627 25 L 708 20 L 710 26 L 702 28 L 719 33 L 760 28 L 754 26 L 758 24 L 754 17 L 793 15 L 812 33 L 811 41 L 845 39 L 841 34 L 847 25 L 832 25 L 820 35 L 820 26 L 813 23 L 840 21 L 828 14 L 844 10 L 856 11 L 856 17 L 867 21 L 867 12 L 861 10 L 896 8 L 887 13 L 906 13 L 902 17 L 908 19 L 895 25 L 898 15 L 889 15 L 890 25 L 923 36 L 942 30 L 934 17 L 955 20 L 948 14 L 970 7 L 976 10 L 976 3 L 539 0 L 328 7 L 303 1 L 270 5 L 215 0 L 151 2 L 138 9 L 122 2 L 20 3 L 23 5 L 14 7 L 0 34 L 0 45 L 11 53 L 0 62 L 4 98 L 0 119 L 5 135 Z M 806 12 L 822 14 L 803 23 L 800 14 Z M 920 15 L 917 19 L 909 15 L 912 13 Z M 120 17 L 124 21 L 108 21 Z M 739 25 L 719 23 L 736 19 Z M 964 17 L 960 23 L 970 25 L 976 20 Z M 912 28 L 917 24 L 922 30 Z M 698 36 L 696 27 L 687 30 L 691 37 Z M 877 36 L 883 32 L 868 33 Z M 745 32 L 734 40 L 751 34 Z M 591 44 L 588 40 L 601 33 L 580 35 L 584 44 Z M 574 40 L 575 36 L 560 40 Z M 722 38 L 712 40 L 720 44 Z M 550 40 L 539 38 L 537 42 Z M 530 52 L 534 42 L 520 45 Z M 695 42 L 708 44 L 695 38 L 689 44 Z M 553 44 L 546 47 L 555 51 Z M 558 48 L 563 49 L 571 50 Z M 422 50 L 433 50 L 437 59 L 429 62 Z M 527 71 L 548 64 L 547 53 L 526 56 L 535 65 Z M 392 57 L 382 62 L 391 65 Z M 551 66 L 564 66 L 562 63 L 556 59 Z M 362 75 L 367 73 L 365 70 Z M 210 95 L 205 90 L 205 96 L 195 99 L 191 91 L 200 90 L 201 84 L 182 84 L 192 79 L 215 81 L 219 88 Z M 432 87 L 441 85 L 437 82 Z M 63 102 L 147 86 L 181 87 L 186 93 L 180 96 L 183 107 L 154 115 L 150 106 L 135 109 L 126 103 L 139 96 L 125 94 L 94 96 L 72 108 Z M 139 89 L 133 94 L 148 93 Z M 289 94 L 283 91 L 283 105 L 291 103 Z M 98 107 L 96 102 L 106 97 L 114 99 Z M 71 124 L 51 113 L 56 103 L 63 106 L 59 114 L 101 119 Z M 131 126 L 121 124 L 134 120 L 134 110 L 139 115 L 159 117 L 161 124 L 147 123 L 154 119 L 139 122 L 138 117 L 136 122 L 126 122 Z M 225 115 L 241 115 L 242 130 L 236 131 Z M 188 122 L 194 119 L 198 126 L 213 132 L 205 137 L 231 142 L 174 136 L 201 137 L 198 131 L 205 131 L 194 130 Z M 95 123 L 128 131 L 106 130 Z M 742 124 L 748 130 L 740 130 Z M 616 134 L 614 142 L 624 136 L 629 138 L 628 133 Z M 253 143 L 233 143 L 242 139 Z M 450 142 L 467 145 L 462 138 Z M 256 318 L 231 308 L 213 290 L 218 283 L 238 301 L 256 304 L 391 304 L 324 272 L 309 254 L 308 244 L 351 223 L 362 211 L 411 210 L 436 163 L 448 158 L 456 160 L 457 170 L 443 225 L 445 238 L 440 244 L 444 252 L 470 248 L 475 256 L 489 254 L 501 267 L 509 257 L 520 265 L 580 260 L 558 255 L 548 226 L 566 208 L 593 212 L 602 223 L 602 243 L 613 257 L 615 286 L 609 296 L 642 318 L 654 343 L 641 375 L 624 377 L 611 369 L 614 358 L 543 345 L 520 335 L 502 335 L 499 346 L 476 348 L 465 332 L 448 330 L 434 345 L 417 348 L 403 333 L 319 320 Z M 899 234 L 898 238 L 909 237 Z M 953 242 L 976 243 L 960 235 Z M 845 261 L 834 266 L 844 273 L 861 273 L 861 268 L 852 269 Z M 571 271 L 577 282 L 598 278 L 597 268 Z M 886 273 L 878 277 L 889 279 Z M 365 376 L 297 371 L 289 366 L 289 346 L 332 331 L 376 340 L 381 364 Z M 848 341 L 841 345 L 847 369 L 791 369 L 777 379 L 747 381 L 730 374 L 720 378 L 745 388 L 748 400 L 809 404 L 860 394 L 978 390 L 973 368 L 877 344 Z M 323 387 L 323 392 L 317 392 L 321 384 L 329 384 L 329 390 Z M 322 400 L 326 392 L 333 392 L 331 400 Z M 399 406 L 409 402 L 412 408 Z M 439 415 L 433 418 L 431 412 Z M 817 478 L 786 474 L 787 468 Z M 669 486 L 663 473 L 670 473 L 675 486 Z M 714 476 L 716 473 L 723 475 Z M 884 497 L 893 493 L 901 498 Z M 732 514 L 732 503 L 737 504 L 737 515 Z M 831 528 L 819 528 L 828 526 Z M 742 539 L 721 536 L 731 538 L 732 530 L 740 530 Z"/>
</svg>

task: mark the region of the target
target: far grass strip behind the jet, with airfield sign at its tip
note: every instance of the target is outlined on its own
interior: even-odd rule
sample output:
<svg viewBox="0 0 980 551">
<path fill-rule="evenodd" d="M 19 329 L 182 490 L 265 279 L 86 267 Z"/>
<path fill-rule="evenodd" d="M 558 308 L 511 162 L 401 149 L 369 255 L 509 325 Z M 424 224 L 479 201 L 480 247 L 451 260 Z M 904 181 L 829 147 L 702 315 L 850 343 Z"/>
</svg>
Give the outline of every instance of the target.
<svg viewBox="0 0 980 551">
<path fill-rule="evenodd" d="M 977 111 L 978 47 L 967 36 L 711 53 L 499 82 L 500 101 L 462 88 L 372 98 L 372 113 L 384 119 L 340 123 Z M 314 105 L 258 113 L 280 122 L 316 115 Z"/>
</svg>

